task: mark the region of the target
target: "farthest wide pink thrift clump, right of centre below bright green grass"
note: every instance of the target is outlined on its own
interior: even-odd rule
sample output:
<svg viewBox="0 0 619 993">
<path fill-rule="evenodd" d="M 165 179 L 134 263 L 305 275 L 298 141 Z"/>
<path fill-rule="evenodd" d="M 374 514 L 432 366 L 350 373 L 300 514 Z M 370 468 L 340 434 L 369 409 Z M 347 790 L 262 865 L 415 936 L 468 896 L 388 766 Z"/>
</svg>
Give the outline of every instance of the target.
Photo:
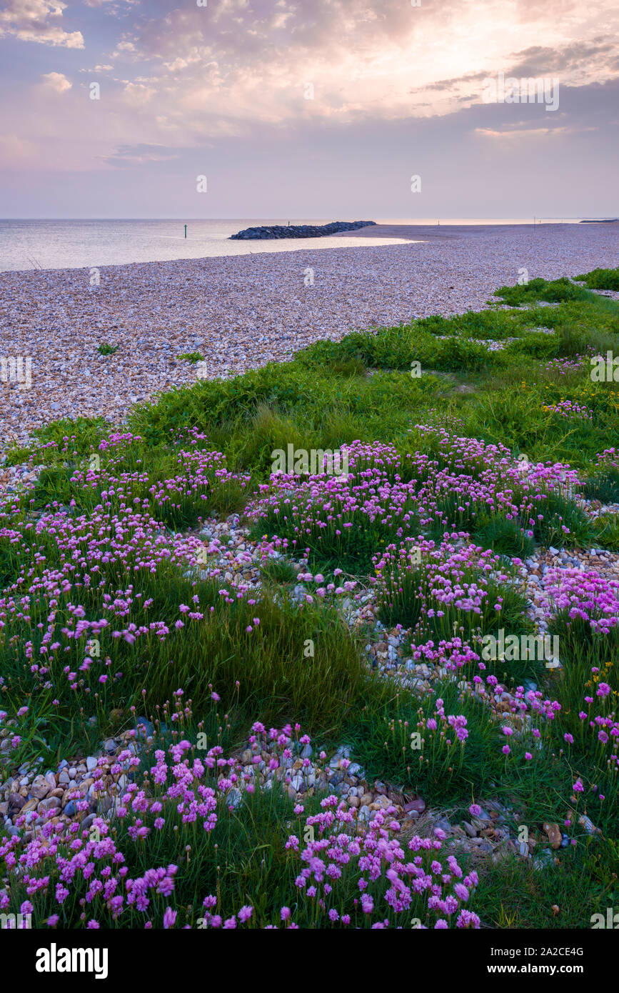
<svg viewBox="0 0 619 993">
<path fill-rule="evenodd" d="M 578 483 L 562 463 L 531 465 L 525 475 L 504 446 L 424 425 L 415 431 L 434 457 L 401 458 L 393 445 L 355 441 L 346 446 L 347 477 L 274 474 L 248 512 L 294 547 L 328 542 L 343 548 L 347 529 L 362 532 L 368 525 L 390 540 L 420 524 L 464 528 L 482 514 L 503 514 L 531 528 L 552 490 Z"/>
</svg>

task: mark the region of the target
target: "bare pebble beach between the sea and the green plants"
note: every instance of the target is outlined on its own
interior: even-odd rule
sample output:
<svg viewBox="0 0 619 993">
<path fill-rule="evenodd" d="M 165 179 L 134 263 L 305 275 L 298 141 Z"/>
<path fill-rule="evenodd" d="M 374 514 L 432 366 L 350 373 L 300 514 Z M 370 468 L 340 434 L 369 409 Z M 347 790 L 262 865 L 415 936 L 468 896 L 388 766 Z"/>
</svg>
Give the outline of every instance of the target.
<svg viewBox="0 0 619 993">
<path fill-rule="evenodd" d="M 241 372 L 352 329 L 483 307 L 521 267 L 556 278 L 619 262 L 619 224 L 350 233 L 403 240 L 105 266 L 98 286 L 87 269 L 0 274 L 0 356 L 32 358 L 30 389 L 0 383 L 2 445 L 62 416 L 119 421 L 195 380 L 182 353 L 200 352 L 209 377 Z M 118 351 L 101 356 L 101 343 Z"/>
</svg>

